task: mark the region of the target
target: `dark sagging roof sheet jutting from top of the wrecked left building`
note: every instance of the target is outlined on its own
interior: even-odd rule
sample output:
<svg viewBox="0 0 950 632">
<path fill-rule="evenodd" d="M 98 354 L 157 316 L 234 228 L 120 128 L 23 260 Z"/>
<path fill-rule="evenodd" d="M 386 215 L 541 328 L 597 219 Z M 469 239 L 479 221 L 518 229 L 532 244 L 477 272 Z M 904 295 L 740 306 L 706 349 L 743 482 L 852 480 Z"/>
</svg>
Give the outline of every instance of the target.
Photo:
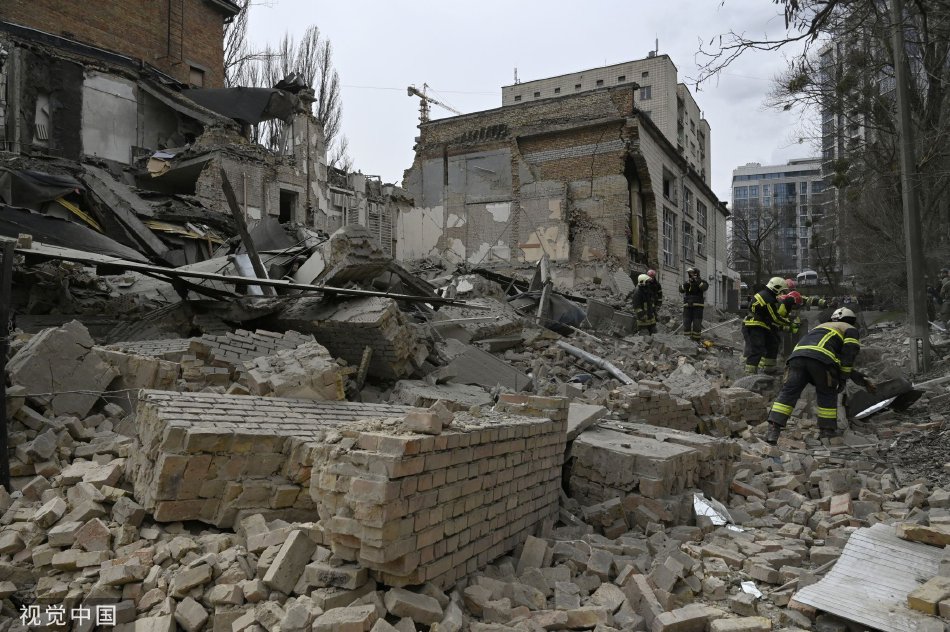
<svg viewBox="0 0 950 632">
<path fill-rule="evenodd" d="M 294 95 L 276 88 L 196 88 L 182 90 L 182 94 L 218 114 L 249 125 L 269 119 L 290 122 L 300 103 Z"/>
</svg>

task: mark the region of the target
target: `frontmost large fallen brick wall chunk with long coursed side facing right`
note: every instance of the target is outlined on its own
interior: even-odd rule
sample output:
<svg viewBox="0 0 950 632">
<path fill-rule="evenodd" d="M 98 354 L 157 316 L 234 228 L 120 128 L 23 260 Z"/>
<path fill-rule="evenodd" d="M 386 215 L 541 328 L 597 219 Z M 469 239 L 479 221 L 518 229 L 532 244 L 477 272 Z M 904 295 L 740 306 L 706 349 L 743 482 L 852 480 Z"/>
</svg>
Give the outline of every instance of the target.
<svg viewBox="0 0 950 632">
<path fill-rule="evenodd" d="M 544 398 L 541 398 L 544 399 Z M 314 456 L 311 495 L 333 552 L 391 586 L 451 586 L 558 513 L 566 421 L 456 413 L 436 436 L 398 420 Z"/>
</svg>

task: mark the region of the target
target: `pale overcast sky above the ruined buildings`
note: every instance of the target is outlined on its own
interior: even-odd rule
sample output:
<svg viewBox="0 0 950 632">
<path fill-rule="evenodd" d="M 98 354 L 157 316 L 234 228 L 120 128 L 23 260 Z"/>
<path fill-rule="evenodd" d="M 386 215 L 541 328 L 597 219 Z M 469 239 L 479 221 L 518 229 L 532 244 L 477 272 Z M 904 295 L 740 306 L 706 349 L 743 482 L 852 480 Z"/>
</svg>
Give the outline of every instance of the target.
<svg viewBox="0 0 950 632">
<path fill-rule="evenodd" d="M 501 86 L 641 59 L 659 39 L 712 128 L 713 190 L 730 201 L 732 170 L 815 155 L 796 113 L 766 109 L 782 53 L 748 53 L 718 78 L 693 86 L 699 42 L 730 29 L 750 36 L 784 31 L 772 0 L 252 0 L 252 44 L 299 36 L 310 24 L 333 43 L 343 84 L 343 133 L 354 168 L 402 182 L 413 159 L 419 100 L 406 87 L 463 113 L 501 105 Z M 432 118 L 452 116 L 438 106 Z"/>
</svg>

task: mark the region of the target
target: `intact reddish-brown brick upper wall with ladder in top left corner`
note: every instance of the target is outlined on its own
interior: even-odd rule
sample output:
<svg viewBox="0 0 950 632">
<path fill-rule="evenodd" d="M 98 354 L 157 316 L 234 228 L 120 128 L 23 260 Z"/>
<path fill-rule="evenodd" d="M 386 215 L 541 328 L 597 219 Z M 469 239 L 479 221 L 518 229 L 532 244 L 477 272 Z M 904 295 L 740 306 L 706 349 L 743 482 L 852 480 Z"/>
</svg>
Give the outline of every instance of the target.
<svg viewBox="0 0 950 632">
<path fill-rule="evenodd" d="M 171 47 L 169 6 L 175 7 Z M 188 83 L 190 65 L 201 67 L 207 88 L 224 85 L 224 17 L 206 0 L 0 3 L 0 20 L 141 59 L 183 83 Z"/>
</svg>

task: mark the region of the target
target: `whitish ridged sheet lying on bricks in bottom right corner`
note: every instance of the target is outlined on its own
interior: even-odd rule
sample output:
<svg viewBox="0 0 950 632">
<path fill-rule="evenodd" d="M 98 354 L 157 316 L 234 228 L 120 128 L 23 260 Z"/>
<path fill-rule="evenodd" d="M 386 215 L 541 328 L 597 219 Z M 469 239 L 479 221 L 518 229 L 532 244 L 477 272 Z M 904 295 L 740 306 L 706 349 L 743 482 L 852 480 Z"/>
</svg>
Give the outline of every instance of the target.
<svg viewBox="0 0 950 632">
<path fill-rule="evenodd" d="M 943 550 L 897 537 L 894 527 L 858 529 L 824 579 L 795 601 L 884 632 L 915 632 L 935 621 L 907 607 L 907 595 L 937 574 Z"/>
</svg>

